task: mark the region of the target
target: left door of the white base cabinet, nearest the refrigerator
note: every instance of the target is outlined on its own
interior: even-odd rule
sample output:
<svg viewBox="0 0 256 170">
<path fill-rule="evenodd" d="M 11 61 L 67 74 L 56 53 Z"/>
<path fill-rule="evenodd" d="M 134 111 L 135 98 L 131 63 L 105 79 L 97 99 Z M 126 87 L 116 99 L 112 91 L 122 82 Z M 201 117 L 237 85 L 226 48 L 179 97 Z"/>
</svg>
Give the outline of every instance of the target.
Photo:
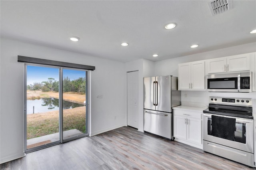
<svg viewBox="0 0 256 170">
<path fill-rule="evenodd" d="M 186 117 L 174 116 L 174 137 L 187 139 Z"/>
</svg>

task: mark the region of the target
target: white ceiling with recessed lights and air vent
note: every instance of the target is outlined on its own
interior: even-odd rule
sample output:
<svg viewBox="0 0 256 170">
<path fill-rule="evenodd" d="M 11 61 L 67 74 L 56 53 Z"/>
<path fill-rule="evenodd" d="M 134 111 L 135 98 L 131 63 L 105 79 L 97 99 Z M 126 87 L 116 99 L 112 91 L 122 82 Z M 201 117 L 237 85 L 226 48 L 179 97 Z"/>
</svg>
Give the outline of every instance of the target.
<svg viewBox="0 0 256 170">
<path fill-rule="evenodd" d="M 1 0 L 0 31 L 1 37 L 121 62 L 158 61 L 256 42 L 256 34 L 250 34 L 256 29 L 256 0 L 233 0 L 231 10 L 216 16 L 208 2 Z M 170 22 L 177 26 L 166 30 Z M 81 40 L 72 42 L 69 36 Z M 190 48 L 193 44 L 199 47 Z M 155 53 L 159 56 L 152 57 Z"/>
</svg>

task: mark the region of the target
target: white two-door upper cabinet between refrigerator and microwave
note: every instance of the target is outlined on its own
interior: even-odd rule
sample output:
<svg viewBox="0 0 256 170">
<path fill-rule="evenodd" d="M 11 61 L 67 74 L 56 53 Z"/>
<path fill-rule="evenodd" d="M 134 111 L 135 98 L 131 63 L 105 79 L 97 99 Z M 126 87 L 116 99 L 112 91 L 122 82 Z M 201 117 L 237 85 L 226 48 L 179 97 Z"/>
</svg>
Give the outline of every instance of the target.
<svg viewBox="0 0 256 170">
<path fill-rule="evenodd" d="M 204 61 L 178 65 L 178 90 L 205 90 Z"/>
</svg>

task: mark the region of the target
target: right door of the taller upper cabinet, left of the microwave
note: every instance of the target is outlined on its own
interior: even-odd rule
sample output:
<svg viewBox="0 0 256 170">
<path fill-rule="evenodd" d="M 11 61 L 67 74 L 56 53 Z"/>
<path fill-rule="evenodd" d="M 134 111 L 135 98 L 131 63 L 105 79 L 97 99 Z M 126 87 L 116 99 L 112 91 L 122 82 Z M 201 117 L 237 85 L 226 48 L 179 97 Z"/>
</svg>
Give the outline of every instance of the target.
<svg viewBox="0 0 256 170">
<path fill-rule="evenodd" d="M 191 89 L 205 89 L 205 71 L 204 61 L 196 61 L 191 63 Z"/>
</svg>

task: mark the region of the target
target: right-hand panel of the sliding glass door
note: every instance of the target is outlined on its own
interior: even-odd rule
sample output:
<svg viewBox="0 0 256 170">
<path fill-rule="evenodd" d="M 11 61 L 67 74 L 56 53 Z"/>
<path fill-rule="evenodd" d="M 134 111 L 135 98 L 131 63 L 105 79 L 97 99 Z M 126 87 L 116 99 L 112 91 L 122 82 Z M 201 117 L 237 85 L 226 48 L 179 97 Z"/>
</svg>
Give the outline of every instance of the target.
<svg viewBox="0 0 256 170">
<path fill-rule="evenodd" d="M 87 133 L 86 71 L 63 69 L 63 140 Z"/>
</svg>

